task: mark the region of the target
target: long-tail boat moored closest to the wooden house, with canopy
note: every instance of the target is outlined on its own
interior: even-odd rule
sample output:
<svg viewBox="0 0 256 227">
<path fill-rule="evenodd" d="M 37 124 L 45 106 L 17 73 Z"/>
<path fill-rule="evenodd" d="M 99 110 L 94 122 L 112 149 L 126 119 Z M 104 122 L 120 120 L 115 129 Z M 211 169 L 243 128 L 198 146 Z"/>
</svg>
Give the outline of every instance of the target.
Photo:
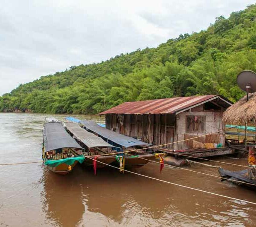
<svg viewBox="0 0 256 227">
<path fill-rule="evenodd" d="M 125 167 L 142 167 L 149 161 L 156 159 L 155 150 L 147 149 L 147 147 L 152 146 L 151 144 L 113 132 L 99 126 L 95 121 L 80 121 L 79 123 L 88 132 L 94 133 L 109 144 L 119 147 L 122 151 L 129 151 L 123 153 L 125 158 Z M 117 159 L 117 161 L 119 160 Z"/>
</svg>

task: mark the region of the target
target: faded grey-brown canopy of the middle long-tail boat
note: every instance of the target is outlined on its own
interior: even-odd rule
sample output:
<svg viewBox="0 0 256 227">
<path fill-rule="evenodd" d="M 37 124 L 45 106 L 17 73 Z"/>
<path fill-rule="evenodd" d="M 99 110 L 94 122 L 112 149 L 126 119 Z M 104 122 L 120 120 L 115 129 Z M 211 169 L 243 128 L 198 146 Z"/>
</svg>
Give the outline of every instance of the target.
<svg viewBox="0 0 256 227">
<path fill-rule="evenodd" d="M 88 148 L 91 147 L 114 147 L 111 144 L 105 142 L 102 138 L 94 135 L 91 132 L 87 132 L 82 129 L 79 124 L 73 122 L 65 122 L 66 128 L 74 135 L 77 139 L 79 139 L 82 143 L 84 143 Z"/>
</svg>

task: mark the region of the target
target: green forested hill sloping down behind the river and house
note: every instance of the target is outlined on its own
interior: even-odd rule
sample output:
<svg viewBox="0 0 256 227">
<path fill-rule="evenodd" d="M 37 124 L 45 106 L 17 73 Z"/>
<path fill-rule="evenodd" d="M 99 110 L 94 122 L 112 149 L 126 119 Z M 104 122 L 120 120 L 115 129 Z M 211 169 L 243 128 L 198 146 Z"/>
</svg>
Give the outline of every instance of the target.
<svg viewBox="0 0 256 227">
<path fill-rule="evenodd" d="M 244 94 L 236 76 L 244 69 L 256 71 L 256 4 L 157 48 L 22 84 L 0 97 L 0 111 L 97 113 L 125 101 L 208 94 L 237 101 Z"/>
</svg>

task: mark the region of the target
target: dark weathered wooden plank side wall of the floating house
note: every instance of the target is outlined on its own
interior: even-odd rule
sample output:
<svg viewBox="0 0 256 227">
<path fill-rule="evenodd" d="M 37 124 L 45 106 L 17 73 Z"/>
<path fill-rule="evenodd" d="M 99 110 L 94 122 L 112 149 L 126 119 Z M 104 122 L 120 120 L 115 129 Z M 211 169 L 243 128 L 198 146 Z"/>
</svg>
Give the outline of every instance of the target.
<svg viewBox="0 0 256 227">
<path fill-rule="evenodd" d="M 120 119 L 123 119 L 123 122 Z M 106 127 L 149 144 L 167 144 L 174 141 L 175 115 L 125 114 L 122 117 L 117 114 L 108 114 L 106 115 Z M 165 147 L 172 148 L 171 145 Z"/>
</svg>

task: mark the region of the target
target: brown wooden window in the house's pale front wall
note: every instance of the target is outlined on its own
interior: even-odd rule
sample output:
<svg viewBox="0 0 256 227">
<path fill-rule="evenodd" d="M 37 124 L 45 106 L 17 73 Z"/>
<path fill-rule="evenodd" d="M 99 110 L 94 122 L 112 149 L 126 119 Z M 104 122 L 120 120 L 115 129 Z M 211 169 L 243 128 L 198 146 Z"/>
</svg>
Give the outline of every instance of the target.
<svg viewBox="0 0 256 227">
<path fill-rule="evenodd" d="M 205 131 L 205 116 L 186 116 L 186 133 Z"/>
</svg>

